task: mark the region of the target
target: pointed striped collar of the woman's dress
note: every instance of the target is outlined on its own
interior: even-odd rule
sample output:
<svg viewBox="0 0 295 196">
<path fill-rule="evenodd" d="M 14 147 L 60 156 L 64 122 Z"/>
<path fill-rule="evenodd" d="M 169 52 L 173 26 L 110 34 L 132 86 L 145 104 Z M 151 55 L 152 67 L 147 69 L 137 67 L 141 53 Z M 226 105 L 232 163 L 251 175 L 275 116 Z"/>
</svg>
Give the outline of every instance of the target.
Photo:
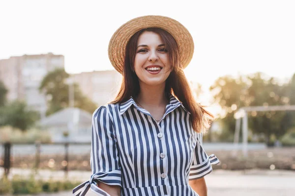
<svg viewBox="0 0 295 196">
<path fill-rule="evenodd" d="M 136 104 L 136 102 L 134 101 L 134 99 L 132 97 L 130 97 L 127 101 L 119 103 L 120 115 L 124 114 L 131 107 L 131 105 L 133 105 L 138 110 L 140 110 L 144 113 L 146 111 L 145 109 L 142 109 L 141 107 L 139 107 Z M 190 114 L 190 112 L 182 105 L 182 103 L 180 101 L 177 100 L 177 98 L 175 98 L 173 95 L 170 95 L 169 103 L 166 106 L 166 108 L 170 108 L 170 109 L 174 110 L 179 106 L 181 106 L 186 112 L 188 112 Z"/>
</svg>

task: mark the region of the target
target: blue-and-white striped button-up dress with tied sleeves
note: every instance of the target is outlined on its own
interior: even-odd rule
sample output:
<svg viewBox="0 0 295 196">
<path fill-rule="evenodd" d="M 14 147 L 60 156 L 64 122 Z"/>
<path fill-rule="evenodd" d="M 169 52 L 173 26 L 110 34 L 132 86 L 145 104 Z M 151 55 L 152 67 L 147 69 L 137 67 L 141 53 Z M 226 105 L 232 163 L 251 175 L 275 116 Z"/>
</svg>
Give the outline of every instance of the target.
<svg viewBox="0 0 295 196">
<path fill-rule="evenodd" d="M 170 96 L 157 123 L 131 97 L 124 103 L 96 109 L 92 118 L 89 181 L 73 190 L 84 196 L 89 189 L 109 196 L 97 181 L 121 187 L 121 196 L 198 196 L 188 181 L 202 178 L 219 163 L 207 156 L 202 134 L 189 123 L 189 112 Z"/>
</svg>

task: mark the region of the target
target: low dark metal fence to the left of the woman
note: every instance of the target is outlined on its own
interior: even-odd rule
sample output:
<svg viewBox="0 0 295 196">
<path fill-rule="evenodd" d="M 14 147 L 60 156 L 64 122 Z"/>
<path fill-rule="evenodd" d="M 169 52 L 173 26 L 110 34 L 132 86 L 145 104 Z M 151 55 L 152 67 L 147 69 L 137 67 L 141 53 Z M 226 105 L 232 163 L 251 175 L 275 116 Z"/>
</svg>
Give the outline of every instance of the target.
<svg viewBox="0 0 295 196">
<path fill-rule="evenodd" d="M 89 168 L 90 143 L 76 142 L 56 142 L 50 144 L 0 144 L 0 167 L 4 168 L 4 175 L 9 174 L 11 167 L 21 167 L 26 169 L 48 168 L 63 170 L 65 176 L 71 165 L 79 165 L 79 160 Z M 72 157 L 70 156 L 72 155 Z M 79 168 L 81 169 L 81 167 Z"/>
</svg>

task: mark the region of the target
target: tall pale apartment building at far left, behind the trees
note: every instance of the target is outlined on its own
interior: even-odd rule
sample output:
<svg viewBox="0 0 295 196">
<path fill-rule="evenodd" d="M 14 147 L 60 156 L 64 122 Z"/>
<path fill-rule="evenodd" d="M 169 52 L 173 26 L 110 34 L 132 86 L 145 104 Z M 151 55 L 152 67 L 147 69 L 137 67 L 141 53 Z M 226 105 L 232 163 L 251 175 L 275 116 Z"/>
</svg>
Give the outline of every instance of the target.
<svg viewBox="0 0 295 196">
<path fill-rule="evenodd" d="M 63 55 L 47 53 L 0 60 L 0 80 L 8 89 L 7 99 L 25 100 L 44 117 L 46 96 L 39 92 L 39 86 L 43 77 L 56 68 L 64 69 Z"/>
</svg>

